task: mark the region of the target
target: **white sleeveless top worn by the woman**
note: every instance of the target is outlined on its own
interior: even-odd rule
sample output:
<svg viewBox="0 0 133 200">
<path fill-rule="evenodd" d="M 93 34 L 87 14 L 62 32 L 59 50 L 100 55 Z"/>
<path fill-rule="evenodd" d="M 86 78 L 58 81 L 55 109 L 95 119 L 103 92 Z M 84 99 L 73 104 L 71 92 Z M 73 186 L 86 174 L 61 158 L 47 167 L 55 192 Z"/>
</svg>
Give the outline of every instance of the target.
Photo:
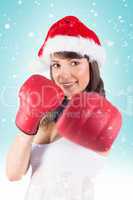
<svg viewBox="0 0 133 200">
<path fill-rule="evenodd" d="M 64 137 L 33 144 L 25 200 L 93 200 L 94 178 L 105 161 L 106 157 Z"/>
</svg>

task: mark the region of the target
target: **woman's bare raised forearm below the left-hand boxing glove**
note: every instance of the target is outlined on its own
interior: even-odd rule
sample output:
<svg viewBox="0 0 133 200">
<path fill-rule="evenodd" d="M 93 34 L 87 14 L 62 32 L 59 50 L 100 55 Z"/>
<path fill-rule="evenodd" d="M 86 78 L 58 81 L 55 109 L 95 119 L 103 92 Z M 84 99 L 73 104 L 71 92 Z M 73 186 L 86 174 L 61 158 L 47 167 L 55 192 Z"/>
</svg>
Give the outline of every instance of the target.
<svg viewBox="0 0 133 200">
<path fill-rule="evenodd" d="M 11 181 L 19 180 L 27 172 L 34 136 L 19 133 L 7 154 L 6 175 Z"/>
</svg>

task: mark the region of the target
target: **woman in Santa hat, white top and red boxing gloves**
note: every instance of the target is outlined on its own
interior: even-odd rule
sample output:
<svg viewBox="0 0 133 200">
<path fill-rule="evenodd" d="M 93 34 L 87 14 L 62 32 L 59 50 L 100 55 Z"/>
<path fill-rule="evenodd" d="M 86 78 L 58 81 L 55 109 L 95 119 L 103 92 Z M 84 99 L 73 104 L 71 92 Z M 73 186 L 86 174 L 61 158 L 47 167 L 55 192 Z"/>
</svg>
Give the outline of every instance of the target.
<svg viewBox="0 0 133 200">
<path fill-rule="evenodd" d="M 21 105 L 16 117 L 16 125 L 21 131 L 17 134 L 7 156 L 7 177 L 13 181 L 20 180 L 27 173 L 29 167 L 32 167 L 26 200 L 93 200 L 93 180 L 103 168 L 106 155 L 119 132 L 121 117 L 117 112 L 117 114 L 119 113 L 117 120 L 112 125 L 112 138 L 106 138 L 106 142 L 104 142 L 106 145 L 101 143 L 100 137 L 98 141 L 94 142 L 92 136 L 96 136 L 96 132 L 99 133 L 99 128 L 95 129 L 95 133 L 88 134 L 88 130 L 92 130 L 92 126 L 90 129 L 88 124 L 92 121 L 94 123 L 94 120 L 95 124 L 98 124 L 98 120 L 101 118 L 94 117 L 92 120 L 93 117 L 87 116 L 87 120 L 91 118 L 91 122 L 87 122 L 86 125 L 82 123 L 83 126 L 79 126 L 81 122 L 86 122 L 85 115 L 79 117 L 79 111 L 83 110 L 82 105 L 75 108 L 71 102 L 75 95 L 85 94 L 87 97 L 91 92 L 97 93 L 98 98 L 106 101 L 104 84 L 99 71 L 99 66 L 104 60 L 104 50 L 92 30 L 78 18 L 66 16 L 51 26 L 38 56 L 42 62 L 42 68 L 36 66 L 38 67 L 36 72 L 42 70 L 41 74 L 44 75 L 44 71 L 48 67 L 50 78 L 56 86 L 52 85 L 51 87 L 51 83 L 47 79 L 35 75 L 21 87 L 20 103 L 23 103 L 23 106 Z M 29 107 L 31 99 L 32 103 L 35 102 L 35 99 L 32 95 L 30 103 L 29 101 L 25 103 L 25 93 L 29 91 L 29 88 L 30 91 L 33 91 L 34 88 L 34 92 L 36 91 L 40 95 L 40 87 L 46 86 L 47 83 L 50 87 L 47 85 L 49 98 L 45 101 L 45 106 L 40 105 L 39 102 L 39 106 L 37 103 Z M 53 87 L 54 89 L 56 87 L 56 100 L 57 96 L 61 99 L 60 102 L 56 101 L 54 106 L 50 103 Z M 58 95 L 60 92 L 61 95 Z M 42 98 L 44 96 L 41 93 Z M 66 115 L 70 114 L 71 108 L 72 114 L 74 114 L 72 118 Z M 85 107 L 85 114 L 86 111 L 88 111 L 88 107 L 87 110 Z M 117 111 L 116 108 L 115 111 Z M 94 110 L 93 112 L 95 114 Z M 104 115 L 102 121 L 108 116 Z M 113 117 L 115 118 L 114 115 Z M 97 126 L 95 125 L 95 127 Z M 93 128 L 95 127 L 93 126 Z M 71 132 L 72 134 L 74 132 L 74 135 L 78 133 L 79 136 L 72 136 Z M 87 135 L 89 135 L 88 140 L 86 139 Z"/>
</svg>

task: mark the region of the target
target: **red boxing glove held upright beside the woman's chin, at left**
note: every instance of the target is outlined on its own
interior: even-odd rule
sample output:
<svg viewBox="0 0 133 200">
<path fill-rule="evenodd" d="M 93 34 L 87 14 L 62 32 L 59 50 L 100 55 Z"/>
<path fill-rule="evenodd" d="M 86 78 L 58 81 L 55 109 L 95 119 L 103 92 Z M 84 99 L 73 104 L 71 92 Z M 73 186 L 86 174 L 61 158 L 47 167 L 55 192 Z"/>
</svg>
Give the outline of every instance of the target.
<svg viewBox="0 0 133 200">
<path fill-rule="evenodd" d="M 64 93 L 53 81 L 32 75 L 22 85 L 19 98 L 16 126 L 26 134 L 35 135 L 42 117 L 62 103 Z"/>
</svg>

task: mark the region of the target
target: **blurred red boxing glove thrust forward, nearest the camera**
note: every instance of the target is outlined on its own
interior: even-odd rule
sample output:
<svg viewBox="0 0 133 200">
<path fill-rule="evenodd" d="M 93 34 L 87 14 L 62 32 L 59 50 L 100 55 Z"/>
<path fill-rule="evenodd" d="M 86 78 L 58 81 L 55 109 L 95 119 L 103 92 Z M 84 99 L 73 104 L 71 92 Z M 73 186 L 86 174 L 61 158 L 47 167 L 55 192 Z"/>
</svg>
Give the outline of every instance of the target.
<svg viewBox="0 0 133 200">
<path fill-rule="evenodd" d="M 57 121 L 59 134 L 94 151 L 108 151 L 116 139 L 122 117 L 116 107 L 96 92 L 72 97 Z"/>
</svg>

